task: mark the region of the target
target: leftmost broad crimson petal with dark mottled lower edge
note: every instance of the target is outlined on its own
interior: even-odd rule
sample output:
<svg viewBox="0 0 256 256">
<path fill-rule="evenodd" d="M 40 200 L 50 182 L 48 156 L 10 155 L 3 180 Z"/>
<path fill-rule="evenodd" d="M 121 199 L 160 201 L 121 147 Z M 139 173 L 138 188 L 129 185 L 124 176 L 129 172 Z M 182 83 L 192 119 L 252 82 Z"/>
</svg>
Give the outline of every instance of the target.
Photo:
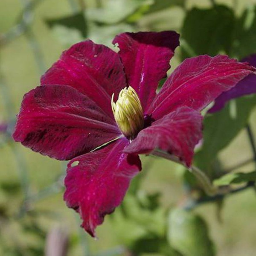
<svg viewBox="0 0 256 256">
<path fill-rule="evenodd" d="M 120 135 L 91 99 L 66 85 L 39 86 L 25 94 L 13 138 L 60 160 L 87 153 Z"/>
</svg>

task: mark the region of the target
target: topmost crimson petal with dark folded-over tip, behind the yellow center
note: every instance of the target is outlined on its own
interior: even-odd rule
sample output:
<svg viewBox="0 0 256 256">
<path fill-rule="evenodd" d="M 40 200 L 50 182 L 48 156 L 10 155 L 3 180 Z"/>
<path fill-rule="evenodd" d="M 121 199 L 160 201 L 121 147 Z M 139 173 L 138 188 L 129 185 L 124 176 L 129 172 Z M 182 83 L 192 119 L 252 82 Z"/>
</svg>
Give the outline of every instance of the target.
<svg viewBox="0 0 256 256">
<path fill-rule="evenodd" d="M 128 85 L 137 91 L 146 111 L 160 79 L 170 68 L 169 61 L 179 45 L 179 35 L 174 31 L 123 33 L 113 40 L 113 44 L 116 43 Z"/>
</svg>

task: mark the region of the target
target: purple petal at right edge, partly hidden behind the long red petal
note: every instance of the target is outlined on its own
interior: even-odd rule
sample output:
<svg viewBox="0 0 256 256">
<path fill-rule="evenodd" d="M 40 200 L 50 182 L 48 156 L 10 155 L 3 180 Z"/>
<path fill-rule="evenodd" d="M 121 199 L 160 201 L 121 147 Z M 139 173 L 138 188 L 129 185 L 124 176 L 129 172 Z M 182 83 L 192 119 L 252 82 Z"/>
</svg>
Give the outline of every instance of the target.
<svg viewBox="0 0 256 256">
<path fill-rule="evenodd" d="M 249 62 L 250 65 L 256 67 L 256 54 L 244 58 L 242 62 Z M 221 93 L 221 95 L 215 99 L 214 106 L 209 109 L 208 112 L 214 113 L 216 111 L 220 111 L 222 108 L 224 108 L 226 102 L 230 101 L 230 99 L 235 99 L 252 93 L 256 93 L 256 75 L 250 74 L 242 79 L 232 89 Z"/>
</svg>

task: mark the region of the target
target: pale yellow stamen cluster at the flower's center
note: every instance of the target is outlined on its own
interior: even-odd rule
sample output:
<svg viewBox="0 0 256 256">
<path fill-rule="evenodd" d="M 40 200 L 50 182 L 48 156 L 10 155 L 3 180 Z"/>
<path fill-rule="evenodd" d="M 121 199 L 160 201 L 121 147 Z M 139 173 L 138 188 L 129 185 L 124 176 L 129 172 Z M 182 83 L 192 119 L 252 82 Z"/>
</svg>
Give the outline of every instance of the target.
<svg viewBox="0 0 256 256">
<path fill-rule="evenodd" d="M 111 107 L 120 131 L 126 137 L 133 139 L 144 125 L 142 106 L 134 88 L 129 86 L 122 89 L 116 103 L 113 93 Z"/>
</svg>

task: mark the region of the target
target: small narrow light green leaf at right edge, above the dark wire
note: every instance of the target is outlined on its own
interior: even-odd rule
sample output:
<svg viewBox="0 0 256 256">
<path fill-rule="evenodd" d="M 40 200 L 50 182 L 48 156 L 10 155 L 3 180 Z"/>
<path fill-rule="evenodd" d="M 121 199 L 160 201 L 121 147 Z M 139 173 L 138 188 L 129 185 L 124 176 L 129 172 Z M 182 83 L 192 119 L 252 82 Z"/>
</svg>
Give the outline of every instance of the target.
<svg viewBox="0 0 256 256">
<path fill-rule="evenodd" d="M 243 183 L 256 180 L 256 171 L 248 173 L 229 173 L 213 181 L 215 186 L 225 186 L 232 183 Z"/>
</svg>

